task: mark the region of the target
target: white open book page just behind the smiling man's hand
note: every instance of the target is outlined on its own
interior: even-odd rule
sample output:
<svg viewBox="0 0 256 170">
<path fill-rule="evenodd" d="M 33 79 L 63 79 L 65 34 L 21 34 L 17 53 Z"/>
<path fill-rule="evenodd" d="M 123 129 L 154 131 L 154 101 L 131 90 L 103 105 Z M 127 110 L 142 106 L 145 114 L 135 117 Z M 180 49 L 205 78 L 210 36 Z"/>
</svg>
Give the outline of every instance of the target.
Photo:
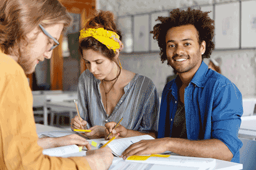
<svg viewBox="0 0 256 170">
<path fill-rule="evenodd" d="M 110 149 L 112 150 L 115 156 L 121 156 L 122 152 L 125 151 L 126 148 L 132 145 L 133 143 L 139 142 L 141 140 L 149 140 L 149 139 L 155 139 L 155 138 L 151 137 L 150 135 L 141 135 L 137 137 L 114 139 L 107 146 L 110 147 Z M 108 141 L 102 141 L 101 143 L 102 145 L 104 145 L 107 142 Z"/>
</svg>

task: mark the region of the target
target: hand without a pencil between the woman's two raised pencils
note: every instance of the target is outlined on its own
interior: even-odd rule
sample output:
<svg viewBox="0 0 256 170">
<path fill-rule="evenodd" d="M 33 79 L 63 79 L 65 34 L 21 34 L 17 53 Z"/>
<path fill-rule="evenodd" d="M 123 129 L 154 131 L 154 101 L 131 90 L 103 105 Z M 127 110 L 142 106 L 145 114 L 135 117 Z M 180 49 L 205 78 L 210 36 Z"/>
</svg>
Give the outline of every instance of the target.
<svg viewBox="0 0 256 170">
<path fill-rule="evenodd" d="M 88 129 L 92 131 L 80 134 L 89 139 L 98 139 L 105 137 L 105 129 L 106 128 L 104 126 L 93 126 L 92 128 Z"/>
</svg>

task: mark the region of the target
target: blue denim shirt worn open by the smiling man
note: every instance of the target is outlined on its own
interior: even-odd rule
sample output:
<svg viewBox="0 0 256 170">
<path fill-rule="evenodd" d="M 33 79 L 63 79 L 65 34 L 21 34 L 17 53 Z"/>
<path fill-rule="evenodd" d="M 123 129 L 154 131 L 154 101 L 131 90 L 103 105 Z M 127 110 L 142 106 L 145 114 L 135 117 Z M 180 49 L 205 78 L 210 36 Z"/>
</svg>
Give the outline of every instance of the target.
<svg viewBox="0 0 256 170">
<path fill-rule="evenodd" d="M 165 137 L 166 128 L 170 128 L 171 137 L 179 95 L 176 80 L 177 78 L 167 83 L 163 90 L 158 138 Z M 208 69 L 202 62 L 185 88 L 184 104 L 188 139 L 219 139 L 232 152 L 231 161 L 240 163 L 239 150 L 242 142 L 238 139 L 238 130 L 243 108 L 242 95 L 238 88 L 225 76 Z M 167 114 L 170 114 L 170 120 L 166 120 Z M 165 127 L 166 121 L 170 121 L 170 127 Z"/>
</svg>

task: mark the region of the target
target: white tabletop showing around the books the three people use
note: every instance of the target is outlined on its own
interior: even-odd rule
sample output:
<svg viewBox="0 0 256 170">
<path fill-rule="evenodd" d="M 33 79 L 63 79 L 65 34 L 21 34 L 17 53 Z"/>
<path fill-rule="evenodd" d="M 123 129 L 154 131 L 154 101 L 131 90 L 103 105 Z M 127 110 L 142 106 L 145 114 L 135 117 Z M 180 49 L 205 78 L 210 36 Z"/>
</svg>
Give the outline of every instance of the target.
<svg viewBox="0 0 256 170">
<path fill-rule="evenodd" d="M 46 131 L 56 131 L 56 130 L 66 131 L 66 129 L 62 129 L 62 128 L 55 128 L 52 126 L 36 124 L 36 133 L 42 133 Z M 82 151 L 79 154 L 85 155 L 83 152 L 85 151 Z M 80 156 L 80 155 L 76 155 L 76 156 Z M 216 159 L 216 167 L 215 167 L 216 170 L 238 170 L 242 168 L 243 168 L 242 164 Z"/>
</svg>

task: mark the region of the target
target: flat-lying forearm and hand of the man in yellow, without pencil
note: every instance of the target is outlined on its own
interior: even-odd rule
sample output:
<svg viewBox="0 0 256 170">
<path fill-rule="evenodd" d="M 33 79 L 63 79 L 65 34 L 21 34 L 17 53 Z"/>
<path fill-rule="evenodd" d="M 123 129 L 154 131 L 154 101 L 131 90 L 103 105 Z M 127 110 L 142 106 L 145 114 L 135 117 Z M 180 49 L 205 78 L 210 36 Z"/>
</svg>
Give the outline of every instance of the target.
<svg viewBox="0 0 256 170">
<path fill-rule="evenodd" d="M 44 149 L 66 145 L 79 145 L 85 146 L 88 150 L 91 150 L 89 142 L 77 134 L 71 134 L 59 138 L 39 138 L 38 145 Z"/>
</svg>

